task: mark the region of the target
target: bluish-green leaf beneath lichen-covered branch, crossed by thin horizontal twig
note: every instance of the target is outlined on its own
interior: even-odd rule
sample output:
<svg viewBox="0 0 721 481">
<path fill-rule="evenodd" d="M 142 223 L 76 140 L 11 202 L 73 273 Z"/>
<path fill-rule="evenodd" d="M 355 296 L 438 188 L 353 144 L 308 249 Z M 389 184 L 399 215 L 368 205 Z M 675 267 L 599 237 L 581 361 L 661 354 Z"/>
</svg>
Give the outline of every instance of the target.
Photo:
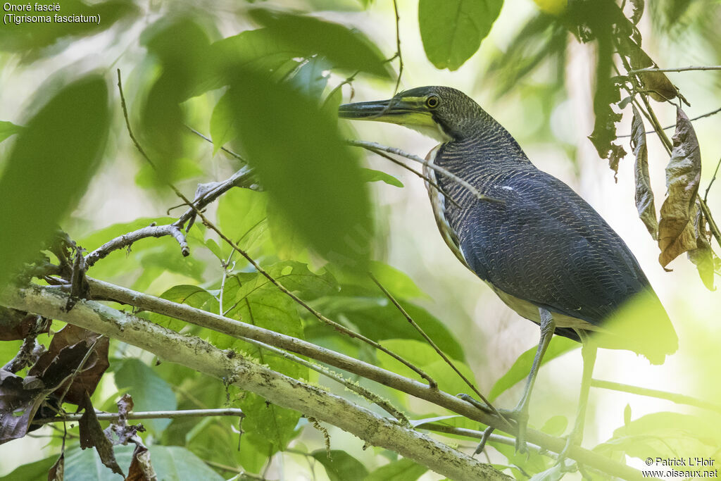
<svg viewBox="0 0 721 481">
<path fill-rule="evenodd" d="M 138 359 L 125 359 L 115 370 L 115 385 L 118 389 L 128 389 L 133 396 L 133 410 L 136 411 L 172 411 L 177 408 L 175 394 L 169 384 L 152 369 Z M 161 433 L 169 419 L 147 419 L 143 425 L 150 431 Z"/>
</svg>

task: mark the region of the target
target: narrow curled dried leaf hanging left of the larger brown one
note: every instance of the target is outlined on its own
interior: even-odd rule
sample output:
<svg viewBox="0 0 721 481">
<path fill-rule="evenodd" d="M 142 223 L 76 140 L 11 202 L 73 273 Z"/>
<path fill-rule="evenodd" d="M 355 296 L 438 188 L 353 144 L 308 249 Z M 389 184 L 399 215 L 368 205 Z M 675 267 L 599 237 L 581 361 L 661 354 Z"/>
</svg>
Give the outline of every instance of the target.
<svg viewBox="0 0 721 481">
<path fill-rule="evenodd" d="M 653 190 L 648 175 L 648 149 L 646 146 L 646 131 L 643 119 L 636 106 L 633 106 L 633 121 L 631 123 L 631 143 L 636 156 L 634 164 L 634 179 L 636 183 L 636 208 L 638 216 L 648 229 L 654 240 L 658 239 L 658 219 L 653 203 Z"/>
</svg>

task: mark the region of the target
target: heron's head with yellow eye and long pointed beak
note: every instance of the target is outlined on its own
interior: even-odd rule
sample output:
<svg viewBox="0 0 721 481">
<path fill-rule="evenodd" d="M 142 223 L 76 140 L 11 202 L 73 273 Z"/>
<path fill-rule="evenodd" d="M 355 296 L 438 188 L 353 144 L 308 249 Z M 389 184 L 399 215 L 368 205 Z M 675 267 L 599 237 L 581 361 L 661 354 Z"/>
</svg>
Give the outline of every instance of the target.
<svg viewBox="0 0 721 481">
<path fill-rule="evenodd" d="M 389 100 L 338 107 L 340 118 L 397 123 L 441 142 L 474 135 L 484 114 L 471 97 L 451 87 L 417 87 Z"/>
</svg>

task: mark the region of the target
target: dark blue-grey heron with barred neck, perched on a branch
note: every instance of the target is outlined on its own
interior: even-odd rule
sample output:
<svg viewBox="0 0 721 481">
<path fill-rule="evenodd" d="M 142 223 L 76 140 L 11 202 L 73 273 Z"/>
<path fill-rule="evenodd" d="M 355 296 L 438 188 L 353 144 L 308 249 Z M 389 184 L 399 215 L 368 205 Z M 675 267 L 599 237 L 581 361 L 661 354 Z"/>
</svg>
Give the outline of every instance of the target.
<svg viewBox="0 0 721 481">
<path fill-rule="evenodd" d="M 518 451 L 526 451 L 531 392 L 554 334 L 580 342 L 583 358 L 575 425 L 559 459 L 583 440 L 598 347 L 632 350 L 655 364 L 676 352 L 671 320 L 619 234 L 571 187 L 532 164 L 471 97 L 451 87 L 418 87 L 389 100 L 340 105 L 339 116 L 404 125 L 439 142 L 423 174 L 441 237 L 507 306 L 540 326 L 521 399 L 505 411 L 518 426 Z M 638 305 L 643 309 L 631 311 L 632 321 L 614 320 Z"/>
</svg>

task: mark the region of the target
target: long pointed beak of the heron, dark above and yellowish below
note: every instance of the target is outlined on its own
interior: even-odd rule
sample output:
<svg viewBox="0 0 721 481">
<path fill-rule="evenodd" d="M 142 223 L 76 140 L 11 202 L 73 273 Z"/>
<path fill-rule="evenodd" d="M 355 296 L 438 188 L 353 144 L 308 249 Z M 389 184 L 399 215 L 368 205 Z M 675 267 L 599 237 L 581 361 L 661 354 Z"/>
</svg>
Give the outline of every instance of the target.
<svg viewBox="0 0 721 481">
<path fill-rule="evenodd" d="M 338 107 L 338 117 L 400 125 L 435 125 L 423 97 L 393 97 L 389 100 L 357 102 Z"/>
</svg>

